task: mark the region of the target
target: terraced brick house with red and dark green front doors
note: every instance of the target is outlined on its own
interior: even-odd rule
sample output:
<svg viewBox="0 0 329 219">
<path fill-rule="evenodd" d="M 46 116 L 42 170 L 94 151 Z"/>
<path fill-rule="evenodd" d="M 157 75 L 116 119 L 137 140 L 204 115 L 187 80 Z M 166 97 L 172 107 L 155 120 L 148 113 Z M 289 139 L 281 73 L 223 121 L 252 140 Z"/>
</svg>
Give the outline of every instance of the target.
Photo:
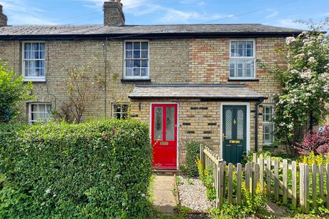
<svg viewBox="0 0 329 219">
<path fill-rule="evenodd" d="M 0 14 L 0 56 L 36 99 L 27 123 L 51 118 L 67 99 L 64 68 L 93 60 L 105 79 L 82 120 L 149 123 L 154 168 L 177 169 L 186 142 L 198 141 L 228 162 L 273 143 L 273 95 L 280 84 L 262 68 L 284 68 L 276 53 L 302 31 L 260 24 L 125 25 L 119 0 L 103 5 L 103 25 L 7 25 Z"/>
</svg>

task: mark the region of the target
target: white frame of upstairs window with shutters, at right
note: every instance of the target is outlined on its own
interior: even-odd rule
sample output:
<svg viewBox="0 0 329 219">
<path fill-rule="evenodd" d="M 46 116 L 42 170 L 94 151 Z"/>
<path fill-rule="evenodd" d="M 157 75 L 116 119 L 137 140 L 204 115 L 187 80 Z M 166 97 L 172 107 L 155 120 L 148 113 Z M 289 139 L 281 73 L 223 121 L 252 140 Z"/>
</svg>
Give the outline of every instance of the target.
<svg viewBox="0 0 329 219">
<path fill-rule="evenodd" d="M 231 44 L 232 41 L 252 41 L 254 44 L 254 51 L 253 51 L 253 56 L 244 56 L 244 57 L 233 57 L 231 56 Z M 228 76 L 229 79 L 239 79 L 239 80 L 249 80 L 249 79 L 256 79 L 256 40 L 255 39 L 250 39 L 250 38 L 239 38 L 239 39 L 230 39 L 230 48 L 229 48 L 229 53 L 230 53 L 230 59 L 228 61 Z M 230 62 L 231 60 L 254 60 L 254 77 L 231 77 L 230 76 Z"/>
</svg>

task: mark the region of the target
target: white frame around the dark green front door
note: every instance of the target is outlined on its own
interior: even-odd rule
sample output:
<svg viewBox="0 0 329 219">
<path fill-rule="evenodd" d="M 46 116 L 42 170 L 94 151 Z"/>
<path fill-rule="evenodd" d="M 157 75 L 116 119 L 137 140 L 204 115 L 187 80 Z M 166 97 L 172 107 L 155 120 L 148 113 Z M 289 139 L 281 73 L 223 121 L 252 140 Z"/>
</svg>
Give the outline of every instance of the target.
<svg viewBox="0 0 329 219">
<path fill-rule="evenodd" d="M 223 133 L 223 105 L 245 105 L 247 106 L 247 154 L 250 152 L 250 102 L 221 102 L 221 135 Z M 220 138 L 220 157 L 223 159 L 223 138 Z"/>
</svg>

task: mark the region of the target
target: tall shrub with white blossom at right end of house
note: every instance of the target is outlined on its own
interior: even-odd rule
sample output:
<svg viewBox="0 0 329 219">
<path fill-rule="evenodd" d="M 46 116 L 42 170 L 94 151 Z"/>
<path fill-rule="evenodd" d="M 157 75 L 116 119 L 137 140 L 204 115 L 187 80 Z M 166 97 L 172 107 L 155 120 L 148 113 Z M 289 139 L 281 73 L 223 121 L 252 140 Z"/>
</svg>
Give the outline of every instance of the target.
<svg viewBox="0 0 329 219">
<path fill-rule="evenodd" d="M 274 118 L 276 138 L 292 145 L 302 140 L 310 117 L 317 123 L 328 114 L 329 37 L 320 31 L 304 31 L 287 38 L 280 53 L 287 68 L 276 69 L 282 83 Z"/>
</svg>

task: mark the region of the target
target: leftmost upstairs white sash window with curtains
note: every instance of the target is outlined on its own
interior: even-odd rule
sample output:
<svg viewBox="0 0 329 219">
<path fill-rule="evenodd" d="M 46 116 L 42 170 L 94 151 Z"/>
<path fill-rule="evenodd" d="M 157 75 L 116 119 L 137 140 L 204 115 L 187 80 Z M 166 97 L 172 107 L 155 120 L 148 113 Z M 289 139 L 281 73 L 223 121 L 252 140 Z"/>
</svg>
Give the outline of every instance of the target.
<svg viewBox="0 0 329 219">
<path fill-rule="evenodd" d="M 26 81 L 45 81 L 45 43 L 23 43 L 23 77 Z"/>
</svg>

